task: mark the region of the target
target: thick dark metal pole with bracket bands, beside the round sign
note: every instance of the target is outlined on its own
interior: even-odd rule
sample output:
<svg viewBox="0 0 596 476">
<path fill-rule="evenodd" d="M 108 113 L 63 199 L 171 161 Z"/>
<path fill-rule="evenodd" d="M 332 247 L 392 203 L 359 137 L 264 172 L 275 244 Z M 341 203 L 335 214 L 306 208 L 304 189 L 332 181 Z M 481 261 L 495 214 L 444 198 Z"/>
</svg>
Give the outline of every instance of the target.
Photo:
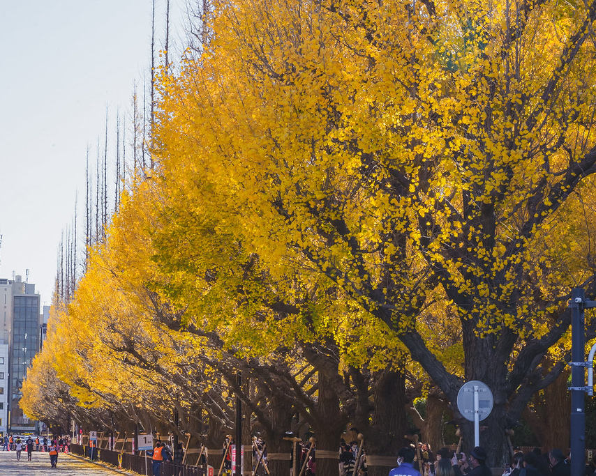
<svg viewBox="0 0 596 476">
<path fill-rule="evenodd" d="M 586 459 L 586 414 L 583 411 L 586 392 L 585 293 L 581 288 L 574 288 L 571 295 L 571 474 L 582 475 Z"/>
</svg>

